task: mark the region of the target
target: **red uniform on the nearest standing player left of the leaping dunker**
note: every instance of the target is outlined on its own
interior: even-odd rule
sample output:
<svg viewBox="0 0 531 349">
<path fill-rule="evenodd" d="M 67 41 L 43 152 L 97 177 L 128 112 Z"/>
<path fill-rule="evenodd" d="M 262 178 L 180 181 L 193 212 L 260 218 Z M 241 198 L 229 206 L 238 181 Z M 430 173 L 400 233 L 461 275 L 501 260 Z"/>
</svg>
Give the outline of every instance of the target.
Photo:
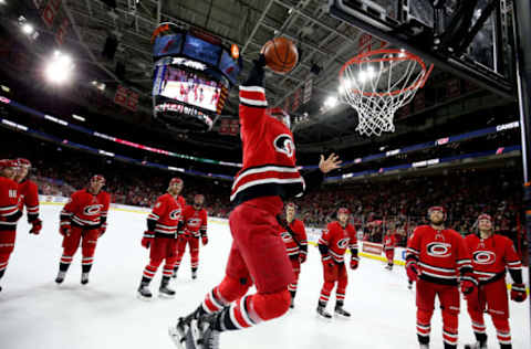
<svg viewBox="0 0 531 349">
<path fill-rule="evenodd" d="M 197 268 L 199 266 L 199 237 L 207 236 L 207 210 L 196 210 L 192 205 L 186 205 L 183 211 L 183 234 L 177 243 L 175 266 L 180 266 L 186 245 L 188 245 L 191 267 Z"/>
</svg>

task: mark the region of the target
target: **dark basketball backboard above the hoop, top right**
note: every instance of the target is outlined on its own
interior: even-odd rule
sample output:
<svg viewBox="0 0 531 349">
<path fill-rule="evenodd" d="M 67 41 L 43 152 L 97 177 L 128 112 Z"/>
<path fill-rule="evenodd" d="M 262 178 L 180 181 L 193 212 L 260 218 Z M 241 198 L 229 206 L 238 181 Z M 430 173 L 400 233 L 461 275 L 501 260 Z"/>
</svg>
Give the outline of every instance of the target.
<svg viewBox="0 0 531 349">
<path fill-rule="evenodd" d="M 330 13 L 436 67 L 514 98 L 506 0 L 330 0 Z"/>
</svg>

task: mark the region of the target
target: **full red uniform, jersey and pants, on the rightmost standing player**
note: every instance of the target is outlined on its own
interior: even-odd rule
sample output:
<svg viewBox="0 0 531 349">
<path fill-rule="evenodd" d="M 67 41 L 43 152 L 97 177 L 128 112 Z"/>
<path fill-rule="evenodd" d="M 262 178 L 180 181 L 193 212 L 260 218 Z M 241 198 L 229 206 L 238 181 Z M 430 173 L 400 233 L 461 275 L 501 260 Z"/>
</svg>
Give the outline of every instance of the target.
<svg viewBox="0 0 531 349">
<path fill-rule="evenodd" d="M 472 256 L 473 276 L 479 282 L 478 296 L 468 298 L 468 314 L 476 334 L 486 334 L 483 313 L 488 313 L 501 345 L 511 343 L 509 327 L 509 300 L 506 268 L 521 273 L 520 257 L 512 241 L 493 234 L 488 239 L 470 234 L 466 237 Z"/>
</svg>

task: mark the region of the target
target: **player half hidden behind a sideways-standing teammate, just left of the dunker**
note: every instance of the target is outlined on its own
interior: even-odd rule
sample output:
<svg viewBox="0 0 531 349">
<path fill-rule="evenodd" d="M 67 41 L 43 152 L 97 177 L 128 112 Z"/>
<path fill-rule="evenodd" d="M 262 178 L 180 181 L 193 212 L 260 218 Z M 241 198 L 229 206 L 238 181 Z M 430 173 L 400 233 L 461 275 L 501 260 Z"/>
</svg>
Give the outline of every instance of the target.
<svg viewBox="0 0 531 349">
<path fill-rule="evenodd" d="M 197 194 L 194 197 L 194 205 L 186 205 L 183 210 L 183 231 L 179 232 L 177 240 L 177 257 L 175 261 L 174 275 L 183 261 L 186 245 L 190 250 L 191 278 L 197 277 L 197 268 L 199 267 L 199 237 L 204 246 L 208 244 L 207 235 L 207 210 L 202 208 L 205 197 Z"/>
</svg>

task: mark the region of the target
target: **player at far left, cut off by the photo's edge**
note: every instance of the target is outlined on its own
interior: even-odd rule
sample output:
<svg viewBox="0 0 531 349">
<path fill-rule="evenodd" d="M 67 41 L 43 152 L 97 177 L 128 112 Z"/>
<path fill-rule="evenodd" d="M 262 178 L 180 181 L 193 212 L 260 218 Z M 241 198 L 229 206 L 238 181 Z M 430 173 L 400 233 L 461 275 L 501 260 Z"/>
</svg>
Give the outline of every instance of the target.
<svg viewBox="0 0 531 349">
<path fill-rule="evenodd" d="M 17 221 L 22 215 L 22 211 L 19 210 L 19 186 L 14 181 L 17 170 L 17 160 L 0 160 L 0 279 L 13 252 Z"/>
</svg>

